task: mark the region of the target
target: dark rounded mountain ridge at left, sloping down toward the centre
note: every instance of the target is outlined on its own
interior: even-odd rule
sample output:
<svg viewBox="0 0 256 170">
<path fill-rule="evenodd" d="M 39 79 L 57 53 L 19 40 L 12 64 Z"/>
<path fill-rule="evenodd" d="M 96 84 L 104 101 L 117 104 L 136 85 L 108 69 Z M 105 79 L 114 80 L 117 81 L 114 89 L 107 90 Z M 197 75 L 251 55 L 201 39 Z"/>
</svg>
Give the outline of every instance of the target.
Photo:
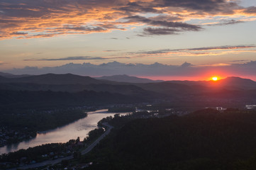
<svg viewBox="0 0 256 170">
<path fill-rule="evenodd" d="M 14 91 L 107 91 L 128 96 L 149 96 L 155 94 L 139 86 L 104 79 L 93 79 L 74 74 L 42 74 L 38 76 L 8 78 L 0 76 L 0 89 Z M 154 95 L 153 95 L 154 96 Z"/>
</svg>

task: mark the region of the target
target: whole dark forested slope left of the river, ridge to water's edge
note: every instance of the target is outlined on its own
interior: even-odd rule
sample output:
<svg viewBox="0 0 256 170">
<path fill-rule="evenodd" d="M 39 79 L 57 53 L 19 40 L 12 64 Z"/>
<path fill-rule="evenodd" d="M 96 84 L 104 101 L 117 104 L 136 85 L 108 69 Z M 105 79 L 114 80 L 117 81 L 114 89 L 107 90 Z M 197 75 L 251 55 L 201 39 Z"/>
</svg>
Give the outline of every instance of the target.
<svg viewBox="0 0 256 170">
<path fill-rule="evenodd" d="M 106 91 L 0 90 L 0 146 L 35 137 L 37 131 L 72 123 L 97 106 L 140 101 L 143 99 Z"/>
</svg>

